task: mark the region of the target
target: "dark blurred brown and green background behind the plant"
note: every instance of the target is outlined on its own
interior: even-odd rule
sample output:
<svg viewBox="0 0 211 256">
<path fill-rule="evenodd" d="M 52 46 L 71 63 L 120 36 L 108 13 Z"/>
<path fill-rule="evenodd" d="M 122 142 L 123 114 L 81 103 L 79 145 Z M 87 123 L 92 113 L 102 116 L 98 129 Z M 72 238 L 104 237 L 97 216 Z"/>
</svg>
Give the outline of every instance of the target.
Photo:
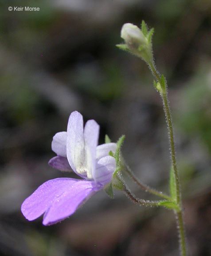
<svg viewBox="0 0 211 256">
<path fill-rule="evenodd" d="M 39 11 L 8 11 L 8 7 Z M 0 255 L 178 256 L 174 215 L 101 191 L 63 222 L 27 221 L 20 205 L 43 182 L 75 177 L 48 166 L 70 113 L 100 124 L 139 179 L 168 193 L 168 135 L 144 62 L 115 44 L 126 22 L 155 28 L 167 78 L 189 255 L 211 255 L 211 1 L 0 1 Z M 125 176 L 139 197 L 141 191 Z"/>
</svg>

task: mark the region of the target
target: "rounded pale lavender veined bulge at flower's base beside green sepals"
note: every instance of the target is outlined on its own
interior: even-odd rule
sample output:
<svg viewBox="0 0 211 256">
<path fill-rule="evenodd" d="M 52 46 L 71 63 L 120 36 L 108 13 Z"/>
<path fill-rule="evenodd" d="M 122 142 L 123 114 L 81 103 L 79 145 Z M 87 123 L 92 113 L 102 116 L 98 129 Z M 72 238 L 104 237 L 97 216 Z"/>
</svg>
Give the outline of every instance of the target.
<svg viewBox="0 0 211 256">
<path fill-rule="evenodd" d="M 96 171 L 93 176 L 95 182 L 105 186 L 112 179 L 115 168 L 116 161 L 112 156 L 102 157 L 96 164 Z"/>
</svg>

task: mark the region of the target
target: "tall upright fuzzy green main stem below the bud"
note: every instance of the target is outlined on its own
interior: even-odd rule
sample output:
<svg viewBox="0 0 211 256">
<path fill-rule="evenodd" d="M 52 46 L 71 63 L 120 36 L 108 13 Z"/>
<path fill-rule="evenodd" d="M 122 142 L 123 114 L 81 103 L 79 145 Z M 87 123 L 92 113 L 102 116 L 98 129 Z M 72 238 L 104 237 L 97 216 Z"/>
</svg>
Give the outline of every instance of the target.
<svg viewBox="0 0 211 256">
<path fill-rule="evenodd" d="M 153 63 L 150 63 L 149 67 L 152 70 L 153 76 L 161 84 L 161 77 L 160 77 L 159 73 L 156 71 L 155 65 Z M 175 183 L 176 183 L 176 203 L 178 204 L 180 209 L 182 209 L 182 199 L 181 199 L 181 193 L 180 193 L 180 179 L 179 179 L 179 174 L 178 174 L 177 166 L 176 166 L 176 154 L 175 154 L 175 144 L 174 144 L 174 136 L 173 136 L 173 128 L 172 128 L 172 118 L 171 118 L 171 114 L 170 114 L 170 107 L 168 104 L 168 93 L 167 93 L 166 83 L 165 83 L 165 91 L 163 91 L 161 89 L 160 96 L 164 103 L 164 112 L 165 112 L 166 121 L 167 121 L 167 125 L 168 125 L 172 166 L 173 166 L 173 170 L 174 170 Z M 180 236 L 180 253 L 181 253 L 181 256 L 186 256 L 185 231 L 184 231 L 182 210 L 180 210 L 179 212 L 176 212 L 176 219 L 177 219 L 177 226 L 178 226 L 178 231 L 179 231 L 179 236 Z"/>
</svg>

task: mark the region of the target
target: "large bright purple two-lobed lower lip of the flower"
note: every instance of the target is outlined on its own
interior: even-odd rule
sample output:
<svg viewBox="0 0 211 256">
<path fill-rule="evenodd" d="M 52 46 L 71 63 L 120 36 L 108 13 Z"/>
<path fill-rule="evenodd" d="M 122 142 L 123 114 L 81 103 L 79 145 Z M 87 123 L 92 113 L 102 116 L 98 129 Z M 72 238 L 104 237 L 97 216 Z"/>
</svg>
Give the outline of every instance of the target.
<svg viewBox="0 0 211 256">
<path fill-rule="evenodd" d="M 94 191 L 94 185 L 95 184 L 93 184 L 93 182 L 88 180 L 75 180 L 71 178 L 58 178 L 54 180 L 48 180 L 47 182 L 39 186 L 39 188 L 37 188 L 35 192 L 31 194 L 31 196 L 24 200 L 23 204 L 21 205 L 21 212 L 27 220 L 35 220 L 44 212 L 46 212 L 47 209 L 51 208 L 52 205 L 55 205 L 55 201 L 61 202 L 62 200 L 60 199 L 66 198 L 66 193 L 69 193 L 68 198 L 73 197 L 73 204 L 71 204 L 71 202 L 68 202 L 66 208 L 70 208 L 69 212 L 71 214 L 76 210 L 78 204 L 80 204 L 81 201 L 84 200 L 90 192 Z M 53 207 L 52 210 L 56 211 L 56 208 Z M 63 209 L 61 208 L 58 210 L 58 215 L 54 215 L 55 222 L 62 220 L 66 217 L 63 216 L 62 212 Z M 47 224 L 50 222 L 50 220 L 51 222 L 53 221 L 53 218 L 50 218 L 50 216 L 51 214 L 48 217 L 49 221 L 47 221 L 47 219 L 44 223 Z"/>
</svg>

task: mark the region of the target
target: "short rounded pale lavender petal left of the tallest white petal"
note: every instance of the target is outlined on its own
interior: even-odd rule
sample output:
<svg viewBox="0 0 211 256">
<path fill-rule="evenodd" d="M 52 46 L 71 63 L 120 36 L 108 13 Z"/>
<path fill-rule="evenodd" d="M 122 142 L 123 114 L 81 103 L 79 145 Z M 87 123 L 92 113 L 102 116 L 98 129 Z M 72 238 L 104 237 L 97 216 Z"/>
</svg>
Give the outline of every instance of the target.
<svg viewBox="0 0 211 256">
<path fill-rule="evenodd" d="M 66 132 L 57 132 L 55 134 L 51 148 L 57 155 L 66 157 Z"/>
</svg>

